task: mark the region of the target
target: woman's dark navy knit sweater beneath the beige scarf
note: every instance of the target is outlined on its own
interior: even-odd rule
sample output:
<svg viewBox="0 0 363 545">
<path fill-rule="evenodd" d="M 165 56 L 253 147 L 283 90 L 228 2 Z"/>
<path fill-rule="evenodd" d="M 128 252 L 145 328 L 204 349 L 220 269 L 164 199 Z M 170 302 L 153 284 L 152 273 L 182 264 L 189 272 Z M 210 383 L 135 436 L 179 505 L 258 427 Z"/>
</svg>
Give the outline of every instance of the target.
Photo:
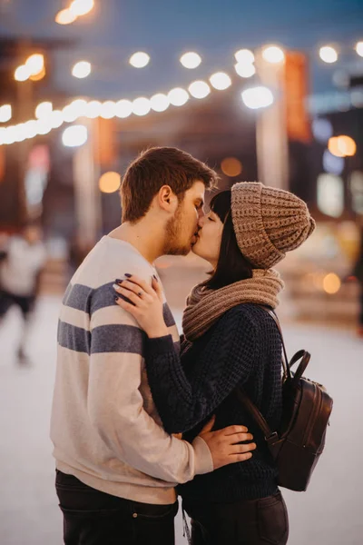
<svg viewBox="0 0 363 545">
<path fill-rule="evenodd" d="M 192 441 L 216 415 L 214 430 L 232 424 L 249 428 L 257 444 L 248 461 L 199 475 L 178 487 L 185 499 L 203 502 L 253 500 L 277 490 L 276 467 L 266 441 L 235 398 L 243 385 L 272 430 L 281 415 L 281 341 L 268 312 L 251 303 L 226 312 L 195 342 L 184 342 L 182 355 L 172 337 L 147 341 L 146 367 L 152 397 L 169 433 Z"/>
</svg>

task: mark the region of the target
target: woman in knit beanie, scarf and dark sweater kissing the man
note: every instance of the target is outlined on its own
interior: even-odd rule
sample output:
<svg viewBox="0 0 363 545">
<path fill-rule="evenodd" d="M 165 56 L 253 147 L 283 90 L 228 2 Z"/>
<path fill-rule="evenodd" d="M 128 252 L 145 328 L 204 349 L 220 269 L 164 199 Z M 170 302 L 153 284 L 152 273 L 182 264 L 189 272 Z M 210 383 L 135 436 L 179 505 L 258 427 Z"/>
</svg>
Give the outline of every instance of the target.
<svg viewBox="0 0 363 545">
<path fill-rule="evenodd" d="M 152 397 L 169 433 L 192 441 L 215 415 L 213 429 L 248 427 L 250 459 L 179 486 L 191 516 L 193 545 L 287 543 L 288 514 L 277 469 L 260 428 L 234 394 L 243 386 L 270 428 L 281 416 L 281 340 L 260 305 L 275 309 L 283 282 L 273 267 L 314 231 L 307 205 L 262 183 L 236 183 L 211 200 L 193 252 L 211 263 L 209 279 L 187 301 L 181 354 L 162 317 L 162 293 L 135 276 L 118 300 L 148 333 L 146 367 Z"/>
</svg>

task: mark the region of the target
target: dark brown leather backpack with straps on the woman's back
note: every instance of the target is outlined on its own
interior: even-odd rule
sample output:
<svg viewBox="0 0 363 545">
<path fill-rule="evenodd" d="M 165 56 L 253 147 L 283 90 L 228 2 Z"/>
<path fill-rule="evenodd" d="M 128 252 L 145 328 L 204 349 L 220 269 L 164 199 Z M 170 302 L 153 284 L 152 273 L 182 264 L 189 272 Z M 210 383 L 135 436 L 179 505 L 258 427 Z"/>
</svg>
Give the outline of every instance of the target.
<svg viewBox="0 0 363 545">
<path fill-rule="evenodd" d="M 236 393 L 264 433 L 272 458 L 278 466 L 278 484 L 289 490 L 307 490 L 311 474 L 324 449 L 333 400 L 324 386 L 302 376 L 310 360 L 309 352 L 300 350 L 288 362 L 280 322 L 269 307 L 262 308 L 276 322 L 282 341 L 284 375 L 280 430 L 270 430 L 258 408 L 240 387 Z M 292 373 L 290 369 L 297 362 L 299 367 Z"/>
</svg>

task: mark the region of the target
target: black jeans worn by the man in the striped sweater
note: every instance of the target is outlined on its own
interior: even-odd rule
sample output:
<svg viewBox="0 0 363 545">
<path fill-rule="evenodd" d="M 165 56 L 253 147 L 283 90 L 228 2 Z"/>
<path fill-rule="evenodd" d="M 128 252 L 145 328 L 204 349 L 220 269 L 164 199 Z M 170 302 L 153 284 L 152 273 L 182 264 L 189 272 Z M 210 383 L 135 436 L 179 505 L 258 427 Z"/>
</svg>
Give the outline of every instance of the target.
<svg viewBox="0 0 363 545">
<path fill-rule="evenodd" d="M 65 545 L 174 545 L 178 502 L 150 505 L 124 500 L 56 471 L 55 488 L 64 514 Z"/>
</svg>

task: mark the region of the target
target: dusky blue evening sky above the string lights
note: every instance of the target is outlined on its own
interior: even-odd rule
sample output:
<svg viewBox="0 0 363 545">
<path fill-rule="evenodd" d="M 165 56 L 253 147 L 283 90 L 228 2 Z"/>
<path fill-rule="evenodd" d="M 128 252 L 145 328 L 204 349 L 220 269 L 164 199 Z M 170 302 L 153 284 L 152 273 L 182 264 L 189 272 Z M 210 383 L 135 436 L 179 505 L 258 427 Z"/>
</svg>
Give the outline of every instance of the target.
<svg viewBox="0 0 363 545">
<path fill-rule="evenodd" d="M 363 40 L 362 0 L 95 0 L 93 14 L 60 26 L 54 15 L 62 0 L 0 0 L 1 35 L 75 39 L 76 47 L 56 55 L 56 81 L 73 94 L 100 98 L 135 98 L 167 92 L 216 70 L 233 70 L 233 53 L 241 47 L 278 43 L 310 55 L 313 90 L 333 89 L 338 68 L 319 61 L 319 45 L 342 49 L 340 65 L 357 63 L 355 42 Z M 128 65 L 135 51 L 152 57 L 142 70 Z M 196 70 L 186 70 L 179 57 L 201 54 Z M 93 74 L 75 80 L 74 62 L 89 60 Z"/>
</svg>

